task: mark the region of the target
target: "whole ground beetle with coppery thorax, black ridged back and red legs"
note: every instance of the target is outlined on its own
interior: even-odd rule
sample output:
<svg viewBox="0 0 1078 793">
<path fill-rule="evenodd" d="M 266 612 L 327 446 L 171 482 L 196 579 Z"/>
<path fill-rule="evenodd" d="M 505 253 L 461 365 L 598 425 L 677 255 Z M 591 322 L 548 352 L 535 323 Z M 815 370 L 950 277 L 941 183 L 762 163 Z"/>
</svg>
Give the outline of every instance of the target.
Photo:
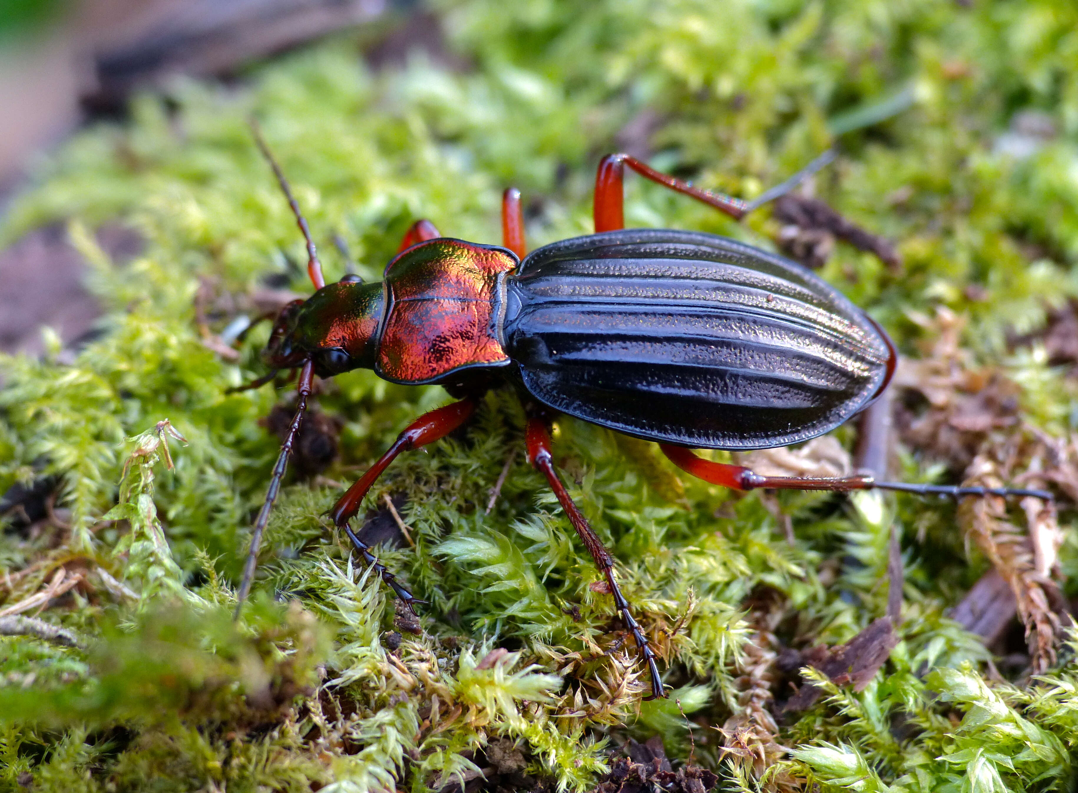
<svg viewBox="0 0 1078 793">
<path fill-rule="evenodd" d="M 679 468 L 736 490 L 884 488 L 1051 497 L 1036 490 L 904 484 L 869 476 L 768 477 L 691 451 L 766 449 L 827 433 L 880 395 L 898 356 L 863 311 L 788 259 L 714 234 L 625 229 L 624 167 L 741 219 L 829 162 L 830 154 L 751 203 L 693 187 L 627 154 L 609 154 L 595 182 L 594 234 L 526 255 L 520 193 L 509 189 L 502 246 L 443 237 L 430 221 L 419 220 L 383 282 L 364 284 L 346 275 L 327 285 L 288 182 L 257 128 L 254 134 L 306 240 L 316 291 L 280 312 L 263 353 L 272 372 L 245 386 L 262 385 L 281 369 L 301 370 L 295 414 L 254 522 L 240 606 L 314 375 L 356 368 L 395 383 L 437 383 L 459 399 L 410 424 L 329 512 L 386 584 L 413 611 L 424 602 L 353 532 L 349 520 L 363 496 L 398 454 L 468 421 L 485 391 L 515 386 L 528 416 L 528 461 L 547 476 L 606 577 L 648 665 L 652 697 L 665 696 L 654 651 L 630 613 L 613 558 L 554 469 L 549 427 L 557 413 L 657 441 Z"/>
</svg>

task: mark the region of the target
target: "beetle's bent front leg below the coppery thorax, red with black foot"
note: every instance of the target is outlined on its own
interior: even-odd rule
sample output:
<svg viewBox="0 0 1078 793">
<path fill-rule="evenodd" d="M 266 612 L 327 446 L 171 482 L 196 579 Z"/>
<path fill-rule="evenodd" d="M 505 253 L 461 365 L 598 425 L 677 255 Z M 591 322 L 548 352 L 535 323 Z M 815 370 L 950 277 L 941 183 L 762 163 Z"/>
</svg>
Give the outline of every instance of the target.
<svg viewBox="0 0 1078 793">
<path fill-rule="evenodd" d="M 386 450 L 386 453 L 378 457 L 377 462 L 368 468 L 367 473 L 363 474 L 363 476 L 361 476 L 355 484 L 348 488 L 345 494 L 337 500 L 337 503 L 333 505 L 333 508 L 330 509 L 329 512 L 333 518 L 333 523 L 338 529 L 344 529 L 345 533 L 348 535 L 348 539 L 350 539 L 351 544 L 356 546 L 356 549 L 363 555 L 363 559 L 367 560 L 367 563 L 374 565 L 374 570 L 382 576 L 382 580 L 392 588 L 392 590 L 397 593 L 397 597 L 403 600 L 407 604 L 409 609 L 412 609 L 413 613 L 415 613 L 415 609 L 412 604 L 423 603 L 425 601 L 413 598 L 412 593 L 397 582 L 396 576 L 390 573 L 386 566 L 374 557 L 373 553 L 371 553 L 370 546 L 356 536 L 356 534 L 351 531 L 351 528 L 348 525 L 348 521 L 356 517 L 356 512 L 359 511 L 360 504 L 363 503 L 363 496 L 367 495 L 368 491 L 377 478 L 382 476 L 382 473 L 389 467 L 389 464 L 397 459 L 398 454 L 411 451 L 412 449 L 418 449 L 427 443 L 433 443 L 439 438 L 444 438 L 446 435 L 468 421 L 468 418 L 471 416 L 474 411 L 475 399 L 469 397 L 467 399 L 461 399 L 459 402 L 446 405 L 443 408 L 438 408 L 437 410 L 431 410 L 429 413 L 420 415 L 397 436 L 397 440 L 395 440 L 393 445 Z"/>
</svg>

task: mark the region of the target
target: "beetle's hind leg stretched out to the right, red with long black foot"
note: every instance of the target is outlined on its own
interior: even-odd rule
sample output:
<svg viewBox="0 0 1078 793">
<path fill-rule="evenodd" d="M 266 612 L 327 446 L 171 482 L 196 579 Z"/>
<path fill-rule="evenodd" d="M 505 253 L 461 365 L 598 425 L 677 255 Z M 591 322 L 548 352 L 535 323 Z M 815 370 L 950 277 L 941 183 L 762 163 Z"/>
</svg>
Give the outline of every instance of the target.
<svg viewBox="0 0 1078 793">
<path fill-rule="evenodd" d="M 761 476 L 749 468 L 728 463 L 713 463 L 710 460 L 697 457 L 691 449 L 669 443 L 659 447 L 674 465 L 697 479 L 711 484 L 720 484 L 733 490 L 756 490 L 770 488 L 774 490 L 830 490 L 846 493 L 851 490 L 898 490 L 921 495 L 1014 495 L 1033 496 L 1051 501 L 1052 494 L 1047 490 L 1027 490 L 1024 488 L 963 488 L 953 484 L 910 484 L 907 482 L 881 482 L 871 476 L 852 476 L 830 478 L 813 477 L 768 477 Z"/>
</svg>

